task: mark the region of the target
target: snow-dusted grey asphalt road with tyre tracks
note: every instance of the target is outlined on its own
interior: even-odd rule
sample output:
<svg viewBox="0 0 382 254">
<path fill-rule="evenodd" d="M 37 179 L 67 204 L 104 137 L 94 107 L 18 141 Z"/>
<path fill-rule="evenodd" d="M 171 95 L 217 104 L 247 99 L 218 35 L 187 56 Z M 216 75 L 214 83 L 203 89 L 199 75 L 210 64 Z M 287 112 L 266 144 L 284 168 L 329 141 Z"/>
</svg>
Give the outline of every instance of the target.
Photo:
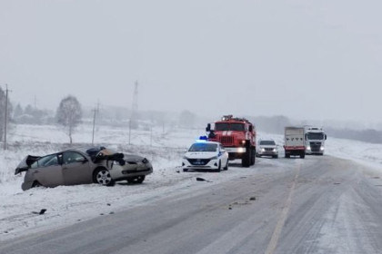
<svg viewBox="0 0 382 254">
<path fill-rule="evenodd" d="M 380 173 L 330 156 L 270 160 L 249 177 L 2 242 L 0 253 L 382 253 Z"/>
</svg>

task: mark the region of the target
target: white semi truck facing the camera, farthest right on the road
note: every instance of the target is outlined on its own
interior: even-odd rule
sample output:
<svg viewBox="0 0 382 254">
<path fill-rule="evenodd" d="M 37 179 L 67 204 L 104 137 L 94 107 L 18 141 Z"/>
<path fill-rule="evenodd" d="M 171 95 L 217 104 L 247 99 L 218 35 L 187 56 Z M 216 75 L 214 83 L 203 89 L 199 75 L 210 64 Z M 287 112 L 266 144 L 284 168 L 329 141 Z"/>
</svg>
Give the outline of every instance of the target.
<svg viewBox="0 0 382 254">
<path fill-rule="evenodd" d="M 327 134 L 322 127 L 305 126 L 306 154 L 324 155 Z"/>
</svg>

